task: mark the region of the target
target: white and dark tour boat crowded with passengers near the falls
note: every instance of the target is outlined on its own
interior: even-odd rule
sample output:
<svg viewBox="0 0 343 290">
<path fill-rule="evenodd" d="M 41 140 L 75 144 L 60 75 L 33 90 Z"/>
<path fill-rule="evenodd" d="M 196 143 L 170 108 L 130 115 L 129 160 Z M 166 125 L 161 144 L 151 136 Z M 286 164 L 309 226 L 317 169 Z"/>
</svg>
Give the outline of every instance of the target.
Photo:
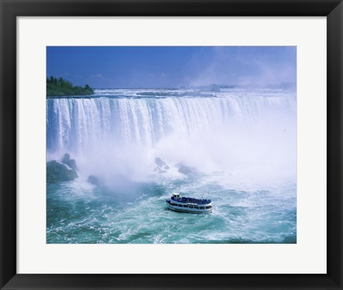
<svg viewBox="0 0 343 290">
<path fill-rule="evenodd" d="M 169 209 L 176 212 L 190 212 L 192 214 L 203 214 L 212 212 L 211 200 L 202 198 L 182 197 L 179 193 L 173 193 L 172 197 L 166 200 Z"/>
</svg>

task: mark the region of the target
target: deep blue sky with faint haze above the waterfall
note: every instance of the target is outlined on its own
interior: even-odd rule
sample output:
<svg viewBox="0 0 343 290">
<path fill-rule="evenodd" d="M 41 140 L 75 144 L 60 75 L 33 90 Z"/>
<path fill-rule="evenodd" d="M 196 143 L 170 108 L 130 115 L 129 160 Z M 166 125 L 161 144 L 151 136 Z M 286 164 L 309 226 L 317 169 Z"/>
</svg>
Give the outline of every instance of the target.
<svg viewBox="0 0 343 290">
<path fill-rule="evenodd" d="M 48 46 L 46 75 L 92 88 L 296 83 L 295 46 Z"/>
</svg>

